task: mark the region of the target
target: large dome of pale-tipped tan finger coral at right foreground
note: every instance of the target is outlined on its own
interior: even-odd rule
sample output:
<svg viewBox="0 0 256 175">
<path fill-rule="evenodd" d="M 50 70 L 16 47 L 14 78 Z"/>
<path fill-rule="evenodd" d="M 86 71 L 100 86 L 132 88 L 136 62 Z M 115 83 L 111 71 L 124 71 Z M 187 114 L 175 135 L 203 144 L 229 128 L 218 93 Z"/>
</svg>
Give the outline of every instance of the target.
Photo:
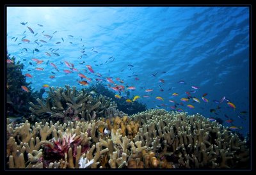
<svg viewBox="0 0 256 175">
<path fill-rule="evenodd" d="M 249 158 L 246 141 L 200 114 L 147 110 L 131 117 L 143 125 L 134 141 L 177 167 L 236 168 Z"/>
</svg>

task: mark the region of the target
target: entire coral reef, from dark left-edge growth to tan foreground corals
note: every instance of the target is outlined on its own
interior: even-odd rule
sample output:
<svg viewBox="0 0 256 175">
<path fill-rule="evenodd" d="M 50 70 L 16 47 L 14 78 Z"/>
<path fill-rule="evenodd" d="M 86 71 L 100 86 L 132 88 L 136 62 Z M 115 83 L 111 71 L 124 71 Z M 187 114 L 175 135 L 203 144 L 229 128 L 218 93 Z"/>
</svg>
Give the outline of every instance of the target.
<svg viewBox="0 0 256 175">
<path fill-rule="evenodd" d="M 27 93 L 31 88 L 13 93 L 29 86 L 13 78 L 24 76 L 21 66 L 7 72 L 10 169 L 248 169 L 248 142 L 217 121 L 164 109 L 125 114 L 107 92 L 92 95 L 75 86 L 49 87 L 45 99 L 43 92 Z"/>
</svg>

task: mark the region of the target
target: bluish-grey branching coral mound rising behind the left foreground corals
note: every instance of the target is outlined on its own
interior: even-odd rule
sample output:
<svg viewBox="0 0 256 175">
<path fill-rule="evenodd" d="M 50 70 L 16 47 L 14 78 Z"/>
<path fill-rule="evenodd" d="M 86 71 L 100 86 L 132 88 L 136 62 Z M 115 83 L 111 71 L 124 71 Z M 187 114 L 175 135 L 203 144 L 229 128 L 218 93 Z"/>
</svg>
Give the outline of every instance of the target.
<svg viewBox="0 0 256 175">
<path fill-rule="evenodd" d="M 31 102 L 29 110 L 36 115 L 37 119 L 50 118 L 63 123 L 84 119 L 90 121 L 98 118 L 112 118 L 124 116 L 124 112 L 116 109 L 116 103 L 111 98 L 99 95 L 95 98 L 85 89 L 77 91 L 76 87 L 68 85 L 63 88 L 49 88 L 49 96 L 43 100 L 36 99 L 38 105 Z"/>
</svg>

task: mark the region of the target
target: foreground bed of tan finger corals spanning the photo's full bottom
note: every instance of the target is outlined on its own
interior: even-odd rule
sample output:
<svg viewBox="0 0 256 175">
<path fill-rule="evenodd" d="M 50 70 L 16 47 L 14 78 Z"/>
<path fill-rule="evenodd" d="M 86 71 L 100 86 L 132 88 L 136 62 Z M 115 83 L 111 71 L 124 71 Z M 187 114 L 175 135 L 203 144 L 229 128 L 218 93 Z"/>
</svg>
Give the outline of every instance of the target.
<svg viewBox="0 0 256 175">
<path fill-rule="evenodd" d="M 215 121 L 159 109 L 123 118 L 7 125 L 9 168 L 246 169 L 249 152 L 245 140 Z"/>
</svg>

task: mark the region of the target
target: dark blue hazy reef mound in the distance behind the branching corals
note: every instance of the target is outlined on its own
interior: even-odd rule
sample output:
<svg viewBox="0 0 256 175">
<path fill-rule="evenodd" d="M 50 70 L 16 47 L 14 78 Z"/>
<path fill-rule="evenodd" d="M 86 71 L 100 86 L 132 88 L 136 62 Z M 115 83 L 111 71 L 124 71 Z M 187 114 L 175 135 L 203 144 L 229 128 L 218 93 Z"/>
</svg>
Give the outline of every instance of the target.
<svg viewBox="0 0 256 175">
<path fill-rule="evenodd" d="M 106 88 L 101 82 L 97 84 L 92 84 L 89 88 L 86 89 L 88 92 L 95 91 L 97 94 L 107 96 L 108 98 L 112 98 L 113 102 L 116 103 L 117 107 L 116 109 L 125 112 L 128 115 L 136 114 L 138 112 L 145 111 L 147 109 L 147 106 L 143 103 L 140 102 L 132 102 L 132 103 L 127 103 L 126 100 L 128 98 L 133 98 L 129 97 L 130 93 L 129 91 L 122 91 L 122 94 L 120 95 L 122 98 L 118 99 L 115 98 L 115 93 L 112 91 L 109 91 L 108 88 Z"/>
</svg>

